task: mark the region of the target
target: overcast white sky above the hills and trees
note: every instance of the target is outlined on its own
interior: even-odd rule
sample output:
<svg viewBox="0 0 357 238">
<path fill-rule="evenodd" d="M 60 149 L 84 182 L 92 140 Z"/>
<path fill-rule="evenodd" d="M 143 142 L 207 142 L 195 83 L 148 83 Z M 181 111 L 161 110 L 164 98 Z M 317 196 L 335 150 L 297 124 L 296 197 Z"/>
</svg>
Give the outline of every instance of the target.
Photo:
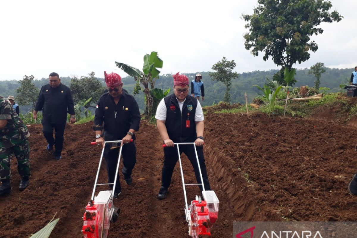
<svg viewBox="0 0 357 238">
<path fill-rule="evenodd" d="M 356 0 L 331 0 L 344 18 L 321 24 L 313 36 L 319 49 L 298 69 L 323 62 L 327 67 L 357 65 Z M 50 72 L 82 76 L 94 71 L 126 74 L 115 61 L 142 69 L 143 56 L 157 51 L 164 74 L 211 71 L 225 56 L 236 71 L 278 69 L 243 45 L 241 19 L 256 0 L 1 1 L 0 80 L 36 79 Z"/>
</svg>

